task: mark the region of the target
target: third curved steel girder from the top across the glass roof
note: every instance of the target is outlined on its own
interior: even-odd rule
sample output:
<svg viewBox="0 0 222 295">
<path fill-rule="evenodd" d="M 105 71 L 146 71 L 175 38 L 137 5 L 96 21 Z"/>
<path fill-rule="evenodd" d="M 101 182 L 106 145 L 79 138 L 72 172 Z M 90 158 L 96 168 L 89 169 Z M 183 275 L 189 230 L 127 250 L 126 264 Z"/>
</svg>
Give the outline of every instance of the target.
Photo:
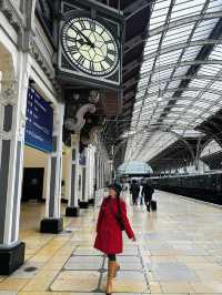
<svg viewBox="0 0 222 295">
<path fill-rule="evenodd" d="M 143 72 L 140 75 L 140 79 L 144 79 L 149 74 L 153 74 L 155 72 L 159 73 L 161 71 L 169 70 L 171 68 L 186 67 L 186 65 L 196 65 L 196 64 L 216 64 L 218 65 L 218 64 L 222 64 L 222 60 L 191 60 L 191 61 L 181 61 L 181 62 L 169 63 L 169 64 L 164 64 L 164 65 L 161 65 L 161 67 L 155 67 L 154 70 L 150 70 L 150 71 L 147 71 L 147 72 Z"/>
</svg>

